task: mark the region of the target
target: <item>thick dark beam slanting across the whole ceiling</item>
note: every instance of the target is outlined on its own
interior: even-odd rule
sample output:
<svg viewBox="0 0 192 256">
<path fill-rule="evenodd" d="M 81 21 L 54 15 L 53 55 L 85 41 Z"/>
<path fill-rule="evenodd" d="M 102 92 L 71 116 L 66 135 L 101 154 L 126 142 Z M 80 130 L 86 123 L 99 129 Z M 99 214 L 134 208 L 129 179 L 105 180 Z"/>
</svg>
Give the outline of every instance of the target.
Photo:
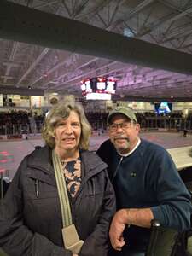
<svg viewBox="0 0 192 256">
<path fill-rule="evenodd" d="M 1 0 L 0 38 L 192 74 L 192 55 Z"/>
</svg>

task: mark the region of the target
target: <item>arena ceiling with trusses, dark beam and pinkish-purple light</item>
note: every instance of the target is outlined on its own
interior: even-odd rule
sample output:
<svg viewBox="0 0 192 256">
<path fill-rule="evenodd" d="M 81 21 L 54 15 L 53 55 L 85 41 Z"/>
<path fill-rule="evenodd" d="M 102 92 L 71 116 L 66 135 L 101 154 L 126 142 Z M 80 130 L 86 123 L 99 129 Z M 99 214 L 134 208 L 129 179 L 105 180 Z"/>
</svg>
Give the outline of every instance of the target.
<svg viewBox="0 0 192 256">
<path fill-rule="evenodd" d="M 192 102 L 192 1 L 0 1 L 0 93 L 81 96 L 96 76 L 122 100 Z"/>
</svg>

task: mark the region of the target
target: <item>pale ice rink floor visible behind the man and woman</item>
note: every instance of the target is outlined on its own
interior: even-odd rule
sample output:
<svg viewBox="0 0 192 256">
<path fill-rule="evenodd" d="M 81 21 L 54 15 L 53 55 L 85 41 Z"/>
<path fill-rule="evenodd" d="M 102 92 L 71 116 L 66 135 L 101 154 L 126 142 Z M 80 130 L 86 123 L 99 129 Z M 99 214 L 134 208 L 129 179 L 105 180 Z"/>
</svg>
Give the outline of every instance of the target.
<svg viewBox="0 0 192 256">
<path fill-rule="evenodd" d="M 178 148 L 192 146 L 192 135 L 183 137 L 183 133 L 169 132 L 143 132 L 141 137 L 148 139 L 151 142 L 158 143 L 164 148 Z M 98 135 L 94 132 L 90 139 L 90 150 L 96 150 L 99 145 L 108 139 L 108 134 Z M 0 143 L 0 171 L 6 170 L 6 176 L 12 179 L 15 171 L 20 165 L 20 161 L 30 154 L 36 146 L 43 146 L 44 141 L 40 135 L 36 137 L 28 137 L 23 140 L 7 140 Z"/>
</svg>

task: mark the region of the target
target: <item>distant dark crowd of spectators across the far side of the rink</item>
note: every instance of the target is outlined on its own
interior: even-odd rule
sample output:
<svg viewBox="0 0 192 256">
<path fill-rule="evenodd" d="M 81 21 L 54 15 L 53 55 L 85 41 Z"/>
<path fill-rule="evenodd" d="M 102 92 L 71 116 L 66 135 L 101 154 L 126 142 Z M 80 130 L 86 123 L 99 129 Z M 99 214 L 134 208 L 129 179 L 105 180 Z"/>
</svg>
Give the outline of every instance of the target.
<svg viewBox="0 0 192 256">
<path fill-rule="evenodd" d="M 169 128 L 181 131 L 183 129 L 192 130 L 192 113 L 187 118 L 183 118 L 181 112 L 155 113 L 143 112 L 136 113 L 138 123 L 142 128 Z M 86 113 L 93 130 L 105 131 L 107 129 L 107 112 Z M 0 112 L 0 135 L 40 133 L 44 125 L 45 114 L 26 111 L 10 111 L 9 113 Z"/>
</svg>

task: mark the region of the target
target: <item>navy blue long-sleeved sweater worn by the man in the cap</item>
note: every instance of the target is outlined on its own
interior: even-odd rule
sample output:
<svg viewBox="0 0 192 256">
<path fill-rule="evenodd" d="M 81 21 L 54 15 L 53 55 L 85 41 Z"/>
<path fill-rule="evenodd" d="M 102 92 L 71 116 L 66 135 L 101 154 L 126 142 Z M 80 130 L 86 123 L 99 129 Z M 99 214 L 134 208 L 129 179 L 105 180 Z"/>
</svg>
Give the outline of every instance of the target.
<svg viewBox="0 0 192 256">
<path fill-rule="evenodd" d="M 142 139 L 119 164 L 121 157 L 108 140 L 97 154 L 108 164 L 118 209 L 150 207 L 161 225 L 179 231 L 189 229 L 190 195 L 165 148 Z M 130 247 L 143 249 L 148 244 L 149 230 L 131 226 L 124 236 Z"/>
</svg>

